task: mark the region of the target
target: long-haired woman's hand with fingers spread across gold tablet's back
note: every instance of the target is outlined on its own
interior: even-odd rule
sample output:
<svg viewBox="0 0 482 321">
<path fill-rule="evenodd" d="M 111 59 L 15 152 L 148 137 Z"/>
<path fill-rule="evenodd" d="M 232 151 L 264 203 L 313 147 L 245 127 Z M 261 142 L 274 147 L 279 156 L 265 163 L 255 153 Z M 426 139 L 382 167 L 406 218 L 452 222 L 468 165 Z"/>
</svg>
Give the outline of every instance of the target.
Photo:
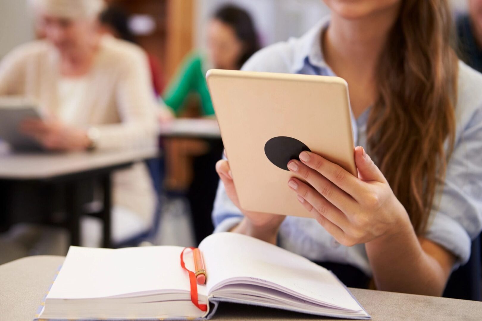
<svg viewBox="0 0 482 321">
<path fill-rule="evenodd" d="M 302 152 L 299 157 L 288 168 L 309 185 L 292 178 L 288 186 L 336 241 L 352 246 L 407 231 L 405 208 L 362 147 L 355 149 L 359 178 L 320 155 Z"/>
</svg>

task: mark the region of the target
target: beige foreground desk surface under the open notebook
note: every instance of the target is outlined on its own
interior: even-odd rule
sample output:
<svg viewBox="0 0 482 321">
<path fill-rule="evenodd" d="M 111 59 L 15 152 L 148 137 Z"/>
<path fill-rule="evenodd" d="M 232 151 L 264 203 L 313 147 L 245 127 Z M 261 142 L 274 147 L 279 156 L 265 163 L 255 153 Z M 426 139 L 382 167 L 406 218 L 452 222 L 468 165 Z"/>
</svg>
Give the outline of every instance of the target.
<svg viewBox="0 0 482 321">
<path fill-rule="evenodd" d="M 64 257 L 25 257 L 0 266 L 0 320 L 30 321 Z M 480 321 L 482 302 L 350 289 L 375 321 Z M 320 320 L 282 310 L 223 303 L 213 320 Z M 323 319 L 327 320 L 327 319 Z M 337 319 L 335 319 L 337 320 Z"/>
</svg>

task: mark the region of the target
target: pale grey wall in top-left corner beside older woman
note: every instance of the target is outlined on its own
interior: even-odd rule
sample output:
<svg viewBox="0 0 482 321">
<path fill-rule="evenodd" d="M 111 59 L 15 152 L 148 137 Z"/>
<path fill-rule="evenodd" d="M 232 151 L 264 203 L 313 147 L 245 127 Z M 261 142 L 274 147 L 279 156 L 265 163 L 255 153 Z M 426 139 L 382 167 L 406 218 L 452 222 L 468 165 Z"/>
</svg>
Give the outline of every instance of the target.
<svg viewBox="0 0 482 321">
<path fill-rule="evenodd" d="M 34 32 L 27 0 L 0 0 L 0 58 L 32 39 Z"/>
</svg>

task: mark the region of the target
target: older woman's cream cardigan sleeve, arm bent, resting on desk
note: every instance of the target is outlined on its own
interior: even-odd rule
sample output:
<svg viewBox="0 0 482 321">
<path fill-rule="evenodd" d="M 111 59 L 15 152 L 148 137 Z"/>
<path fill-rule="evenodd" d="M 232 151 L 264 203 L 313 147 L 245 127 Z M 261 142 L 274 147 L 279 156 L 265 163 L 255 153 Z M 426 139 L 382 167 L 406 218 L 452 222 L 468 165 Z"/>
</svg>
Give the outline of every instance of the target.
<svg viewBox="0 0 482 321">
<path fill-rule="evenodd" d="M 120 124 L 97 127 L 99 149 L 153 146 L 159 131 L 156 102 L 145 54 L 132 55 L 122 66 L 116 88 Z"/>
</svg>

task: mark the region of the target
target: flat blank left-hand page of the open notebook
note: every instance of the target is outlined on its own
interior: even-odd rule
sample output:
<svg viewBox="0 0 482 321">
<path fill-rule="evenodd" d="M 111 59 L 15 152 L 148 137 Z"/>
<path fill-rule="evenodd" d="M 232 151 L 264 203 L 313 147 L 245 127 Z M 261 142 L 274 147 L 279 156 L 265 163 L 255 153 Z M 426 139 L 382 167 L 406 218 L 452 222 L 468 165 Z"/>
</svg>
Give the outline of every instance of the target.
<svg viewBox="0 0 482 321">
<path fill-rule="evenodd" d="M 47 299 L 189 292 L 189 278 L 179 259 L 183 249 L 178 246 L 123 249 L 71 246 Z M 186 251 L 185 261 L 192 269 L 189 252 Z M 205 286 L 198 290 L 200 295 L 206 295 Z"/>
</svg>

